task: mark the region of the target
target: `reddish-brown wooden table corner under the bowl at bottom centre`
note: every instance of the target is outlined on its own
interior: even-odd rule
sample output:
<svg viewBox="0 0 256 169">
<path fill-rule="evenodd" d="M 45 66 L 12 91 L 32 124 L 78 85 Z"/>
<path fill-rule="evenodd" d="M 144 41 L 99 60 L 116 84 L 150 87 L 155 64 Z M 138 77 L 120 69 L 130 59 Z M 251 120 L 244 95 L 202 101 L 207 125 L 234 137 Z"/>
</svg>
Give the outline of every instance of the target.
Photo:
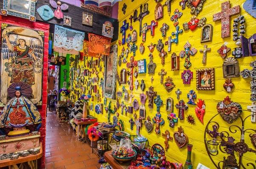
<svg viewBox="0 0 256 169">
<path fill-rule="evenodd" d="M 104 158 L 113 167 L 113 169 L 128 169 L 131 163 L 131 161 L 122 164 L 119 163 L 117 160 L 113 158 L 112 150 L 105 152 Z"/>
</svg>

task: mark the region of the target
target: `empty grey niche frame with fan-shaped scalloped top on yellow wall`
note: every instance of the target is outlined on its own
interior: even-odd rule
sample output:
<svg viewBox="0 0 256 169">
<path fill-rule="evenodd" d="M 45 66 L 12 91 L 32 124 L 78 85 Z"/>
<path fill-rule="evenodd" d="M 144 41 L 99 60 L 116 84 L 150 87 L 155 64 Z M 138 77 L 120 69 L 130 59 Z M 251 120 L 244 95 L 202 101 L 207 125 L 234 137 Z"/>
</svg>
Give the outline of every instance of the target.
<svg viewBox="0 0 256 169">
<path fill-rule="evenodd" d="M 223 69 L 223 77 L 231 78 L 231 77 L 239 77 L 239 65 L 238 61 L 233 57 L 227 57 L 222 64 Z"/>
</svg>

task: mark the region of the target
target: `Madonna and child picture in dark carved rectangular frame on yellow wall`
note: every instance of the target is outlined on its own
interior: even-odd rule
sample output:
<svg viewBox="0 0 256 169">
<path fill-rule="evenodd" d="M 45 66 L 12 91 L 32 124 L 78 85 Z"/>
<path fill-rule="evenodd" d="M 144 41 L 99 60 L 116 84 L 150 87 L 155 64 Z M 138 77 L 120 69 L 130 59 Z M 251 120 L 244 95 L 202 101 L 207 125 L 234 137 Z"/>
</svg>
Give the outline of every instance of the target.
<svg viewBox="0 0 256 169">
<path fill-rule="evenodd" d="M 197 90 L 214 90 L 215 89 L 214 68 L 196 70 L 196 89 Z"/>
</svg>

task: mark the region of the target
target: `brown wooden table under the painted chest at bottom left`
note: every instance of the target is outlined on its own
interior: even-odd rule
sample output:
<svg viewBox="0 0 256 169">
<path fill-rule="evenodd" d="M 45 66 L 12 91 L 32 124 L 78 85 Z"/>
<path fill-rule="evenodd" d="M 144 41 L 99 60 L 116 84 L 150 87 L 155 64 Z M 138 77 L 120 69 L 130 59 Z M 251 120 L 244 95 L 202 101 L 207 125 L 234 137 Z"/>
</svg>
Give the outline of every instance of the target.
<svg viewBox="0 0 256 169">
<path fill-rule="evenodd" d="M 37 155 L 28 155 L 26 157 L 19 157 L 17 160 L 10 160 L 10 159 L 5 159 L 5 160 L 0 160 L 0 168 L 9 166 L 9 169 L 22 169 L 24 166 L 26 166 L 25 163 L 28 163 L 29 167 L 31 169 L 37 169 L 38 164 L 37 160 L 42 157 L 42 144 L 40 152 Z M 18 167 L 17 164 L 20 164 Z"/>
</svg>

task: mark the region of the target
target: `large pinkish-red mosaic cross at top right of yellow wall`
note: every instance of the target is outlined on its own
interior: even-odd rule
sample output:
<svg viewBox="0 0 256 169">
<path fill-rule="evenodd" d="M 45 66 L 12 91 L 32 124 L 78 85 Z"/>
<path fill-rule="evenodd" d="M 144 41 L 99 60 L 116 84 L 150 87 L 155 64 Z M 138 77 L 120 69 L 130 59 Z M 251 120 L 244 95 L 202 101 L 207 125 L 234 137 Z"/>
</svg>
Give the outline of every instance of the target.
<svg viewBox="0 0 256 169">
<path fill-rule="evenodd" d="M 240 13 L 240 6 L 230 8 L 230 2 L 221 3 L 221 12 L 213 14 L 213 21 L 221 20 L 221 37 L 230 37 L 230 17 Z"/>
</svg>

